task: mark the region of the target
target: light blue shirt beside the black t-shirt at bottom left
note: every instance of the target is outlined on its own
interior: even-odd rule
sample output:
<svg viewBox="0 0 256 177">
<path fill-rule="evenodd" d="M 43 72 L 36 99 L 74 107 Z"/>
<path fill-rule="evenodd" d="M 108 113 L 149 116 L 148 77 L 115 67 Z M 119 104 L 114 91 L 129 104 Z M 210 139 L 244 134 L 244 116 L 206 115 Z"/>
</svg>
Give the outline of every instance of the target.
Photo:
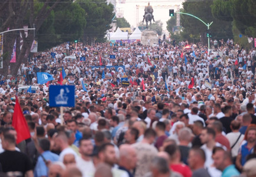
<svg viewBox="0 0 256 177">
<path fill-rule="evenodd" d="M 55 153 L 50 152 L 49 150 L 43 152 L 42 155 L 44 159 L 50 160 L 51 162 L 56 162 L 59 160 L 59 156 L 56 155 Z M 34 177 L 40 176 L 48 176 L 48 168 L 41 156 L 38 157 L 37 164 L 35 165 L 34 169 Z"/>
</svg>

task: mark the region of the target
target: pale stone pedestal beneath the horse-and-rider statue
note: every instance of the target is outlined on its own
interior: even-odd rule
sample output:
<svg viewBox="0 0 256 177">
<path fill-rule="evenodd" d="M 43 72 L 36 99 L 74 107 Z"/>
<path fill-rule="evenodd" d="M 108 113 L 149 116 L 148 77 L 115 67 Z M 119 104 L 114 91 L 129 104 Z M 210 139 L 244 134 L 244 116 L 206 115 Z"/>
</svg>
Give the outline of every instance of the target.
<svg viewBox="0 0 256 177">
<path fill-rule="evenodd" d="M 157 32 L 153 30 L 145 30 L 141 33 L 141 44 L 150 45 L 158 44 Z"/>
</svg>

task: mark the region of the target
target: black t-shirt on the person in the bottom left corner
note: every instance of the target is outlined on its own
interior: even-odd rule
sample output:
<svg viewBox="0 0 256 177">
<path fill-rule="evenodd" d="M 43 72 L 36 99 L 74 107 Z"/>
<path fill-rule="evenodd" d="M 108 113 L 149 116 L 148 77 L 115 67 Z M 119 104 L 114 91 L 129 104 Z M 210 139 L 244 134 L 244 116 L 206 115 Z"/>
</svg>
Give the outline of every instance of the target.
<svg viewBox="0 0 256 177">
<path fill-rule="evenodd" d="M 32 163 L 27 155 L 18 151 L 5 150 L 0 153 L 0 163 L 3 172 L 22 172 L 23 176 L 27 171 L 33 170 Z"/>
</svg>

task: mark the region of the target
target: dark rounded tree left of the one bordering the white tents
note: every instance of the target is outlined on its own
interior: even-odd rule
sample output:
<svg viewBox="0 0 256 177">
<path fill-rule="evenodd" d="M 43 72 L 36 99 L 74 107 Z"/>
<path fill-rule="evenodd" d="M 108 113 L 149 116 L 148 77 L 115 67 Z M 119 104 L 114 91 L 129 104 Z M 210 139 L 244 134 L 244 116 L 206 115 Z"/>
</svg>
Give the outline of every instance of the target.
<svg viewBox="0 0 256 177">
<path fill-rule="evenodd" d="M 86 27 L 85 10 L 77 2 L 60 5 L 50 15 L 36 35 L 38 49 L 45 50 L 82 37 Z"/>
</svg>

